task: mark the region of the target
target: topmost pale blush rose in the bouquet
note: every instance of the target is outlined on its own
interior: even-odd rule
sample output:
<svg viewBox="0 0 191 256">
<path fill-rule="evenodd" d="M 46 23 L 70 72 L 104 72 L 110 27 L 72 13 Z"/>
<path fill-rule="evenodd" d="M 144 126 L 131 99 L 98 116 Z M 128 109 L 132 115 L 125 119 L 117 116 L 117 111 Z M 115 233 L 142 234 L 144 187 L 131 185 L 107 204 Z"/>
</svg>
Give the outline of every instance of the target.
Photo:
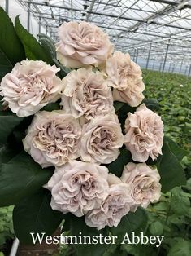
<svg viewBox="0 0 191 256">
<path fill-rule="evenodd" d="M 70 68 L 98 66 L 106 61 L 114 48 L 106 33 L 85 21 L 62 24 L 59 39 L 56 44 L 58 60 Z"/>
</svg>

